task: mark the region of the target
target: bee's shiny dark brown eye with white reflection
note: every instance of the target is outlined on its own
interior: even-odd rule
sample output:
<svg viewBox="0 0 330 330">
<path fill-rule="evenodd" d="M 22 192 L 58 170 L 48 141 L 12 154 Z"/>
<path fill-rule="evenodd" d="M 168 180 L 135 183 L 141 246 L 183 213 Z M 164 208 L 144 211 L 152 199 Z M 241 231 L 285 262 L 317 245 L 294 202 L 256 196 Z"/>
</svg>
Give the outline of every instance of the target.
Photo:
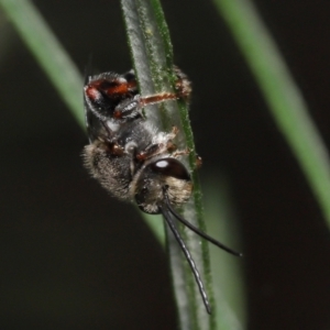
<svg viewBox="0 0 330 330">
<path fill-rule="evenodd" d="M 173 176 L 183 180 L 190 180 L 190 175 L 183 163 L 175 158 L 163 158 L 150 165 L 154 173 Z"/>
</svg>

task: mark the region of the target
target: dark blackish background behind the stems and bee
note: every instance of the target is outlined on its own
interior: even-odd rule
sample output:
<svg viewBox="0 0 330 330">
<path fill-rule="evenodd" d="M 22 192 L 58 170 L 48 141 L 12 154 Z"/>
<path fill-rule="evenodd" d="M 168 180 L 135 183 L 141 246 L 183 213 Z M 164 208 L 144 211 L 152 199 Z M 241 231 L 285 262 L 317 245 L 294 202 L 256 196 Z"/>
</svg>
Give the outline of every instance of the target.
<svg viewBox="0 0 330 330">
<path fill-rule="evenodd" d="M 232 185 L 248 328 L 329 329 L 329 230 L 296 160 L 212 3 L 163 2 L 201 176 Z M 90 54 L 100 72 L 131 67 L 118 1 L 34 3 L 81 73 Z M 329 145 L 330 2 L 255 3 Z M 166 255 L 89 178 L 85 133 L 3 18 L 0 35 L 0 329 L 176 329 Z"/>
</svg>

